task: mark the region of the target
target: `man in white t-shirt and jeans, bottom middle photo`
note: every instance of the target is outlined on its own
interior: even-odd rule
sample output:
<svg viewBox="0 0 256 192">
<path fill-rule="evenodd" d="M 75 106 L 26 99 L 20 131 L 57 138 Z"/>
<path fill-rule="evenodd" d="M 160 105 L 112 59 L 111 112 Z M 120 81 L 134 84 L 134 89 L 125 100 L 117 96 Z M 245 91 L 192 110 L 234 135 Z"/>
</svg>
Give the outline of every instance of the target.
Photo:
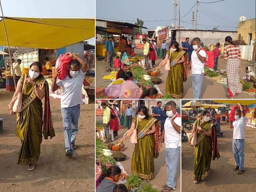
<svg viewBox="0 0 256 192">
<path fill-rule="evenodd" d="M 176 189 L 176 172 L 181 147 L 181 118 L 176 112 L 176 103 L 169 101 L 165 105 L 166 115 L 164 130 L 159 140 L 159 149 L 162 148 L 162 141 L 165 142 L 165 158 L 167 169 L 167 181 L 163 187 L 165 191 Z"/>
</svg>

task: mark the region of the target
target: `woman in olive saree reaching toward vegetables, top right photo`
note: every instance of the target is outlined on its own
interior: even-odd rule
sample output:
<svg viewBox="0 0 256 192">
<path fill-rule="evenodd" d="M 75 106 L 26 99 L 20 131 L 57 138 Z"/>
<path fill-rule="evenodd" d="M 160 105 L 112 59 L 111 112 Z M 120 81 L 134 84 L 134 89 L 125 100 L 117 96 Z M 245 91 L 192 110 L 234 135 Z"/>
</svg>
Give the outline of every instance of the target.
<svg viewBox="0 0 256 192">
<path fill-rule="evenodd" d="M 166 79 L 165 92 L 173 98 L 183 97 L 183 82 L 186 82 L 187 77 L 184 77 L 183 62 L 185 61 L 184 54 L 176 41 L 171 43 L 171 49 L 167 50 L 165 61 L 157 69 L 164 66 L 170 58 L 170 71 Z M 170 55 L 171 54 L 171 55 Z M 172 65 L 174 63 L 174 65 Z"/>
</svg>

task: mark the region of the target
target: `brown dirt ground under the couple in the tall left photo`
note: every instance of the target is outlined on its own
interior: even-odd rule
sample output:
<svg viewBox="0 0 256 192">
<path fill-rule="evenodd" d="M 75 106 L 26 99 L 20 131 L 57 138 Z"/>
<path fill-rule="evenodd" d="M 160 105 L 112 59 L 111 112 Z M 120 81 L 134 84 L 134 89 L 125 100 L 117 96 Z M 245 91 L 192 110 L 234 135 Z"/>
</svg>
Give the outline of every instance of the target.
<svg viewBox="0 0 256 192">
<path fill-rule="evenodd" d="M 0 117 L 4 132 L 0 133 L 0 191 L 95 191 L 95 104 L 81 105 L 79 132 L 75 154 L 65 156 L 60 100 L 50 97 L 56 136 L 41 144 L 36 169 L 17 165 L 21 142 L 15 135 L 16 117 L 9 115 L 7 105 L 14 92 L 0 91 Z"/>
</svg>

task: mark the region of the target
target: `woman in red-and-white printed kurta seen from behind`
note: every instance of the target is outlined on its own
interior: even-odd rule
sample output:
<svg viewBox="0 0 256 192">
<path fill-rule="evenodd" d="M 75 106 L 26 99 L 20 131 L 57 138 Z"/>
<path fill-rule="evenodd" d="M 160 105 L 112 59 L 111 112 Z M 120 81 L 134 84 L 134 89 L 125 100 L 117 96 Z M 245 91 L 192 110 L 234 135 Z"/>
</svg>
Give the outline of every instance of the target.
<svg viewBox="0 0 256 192">
<path fill-rule="evenodd" d="M 227 86 L 228 95 L 231 99 L 235 94 L 241 93 L 239 89 L 239 74 L 242 73 L 240 47 L 235 45 L 230 36 L 225 38 L 227 46 L 224 48 L 224 59 L 227 60 Z"/>
</svg>

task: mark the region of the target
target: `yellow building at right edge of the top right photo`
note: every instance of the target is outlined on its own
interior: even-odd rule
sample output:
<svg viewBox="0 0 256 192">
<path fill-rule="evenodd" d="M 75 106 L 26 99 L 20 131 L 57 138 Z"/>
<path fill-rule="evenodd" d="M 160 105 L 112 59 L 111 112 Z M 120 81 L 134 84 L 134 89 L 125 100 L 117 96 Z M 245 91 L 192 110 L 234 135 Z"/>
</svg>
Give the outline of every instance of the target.
<svg viewBox="0 0 256 192">
<path fill-rule="evenodd" d="M 247 45 L 255 43 L 255 18 L 239 22 L 237 26 L 237 39 L 242 39 Z"/>
</svg>

